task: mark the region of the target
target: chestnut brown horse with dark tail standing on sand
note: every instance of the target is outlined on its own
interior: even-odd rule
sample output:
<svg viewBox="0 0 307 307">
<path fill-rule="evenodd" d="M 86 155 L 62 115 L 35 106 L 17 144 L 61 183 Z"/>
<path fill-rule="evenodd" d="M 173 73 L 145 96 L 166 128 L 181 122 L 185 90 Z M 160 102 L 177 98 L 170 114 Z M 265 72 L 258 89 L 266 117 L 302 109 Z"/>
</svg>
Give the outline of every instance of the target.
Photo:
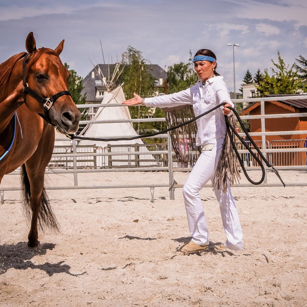
<svg viewBox="0 0 307 307">
<path fill-rule="evenodd" d="M 80 112 L 67 91 L 69 72 L 52 50 L 36 49 L 30 32 L 26 52 L 0 64 L 0 183 L 21 166 L 25 212 L 31 216 L 28 246 L 37 247 L 38 226 L 59 230 L 44 188 L 54 146 L 54 126 L 63 134 L 78 130 Z M 9 150 L 8 150 L 9 149 Z"/>
</svg>

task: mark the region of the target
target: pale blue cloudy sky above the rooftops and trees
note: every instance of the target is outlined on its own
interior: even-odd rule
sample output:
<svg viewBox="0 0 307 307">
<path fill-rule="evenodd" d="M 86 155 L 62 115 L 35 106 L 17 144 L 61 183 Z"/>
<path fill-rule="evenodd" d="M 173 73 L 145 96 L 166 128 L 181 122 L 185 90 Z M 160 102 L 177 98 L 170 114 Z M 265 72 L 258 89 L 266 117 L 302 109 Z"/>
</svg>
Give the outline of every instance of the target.
<svg viewBox="0 0 307 307">
<path fill-rule="evenodd" d="M 253 75 L 270 69 L 278 51 L 290 65 L 299 55 L 307 58 L 306 16 L 306 0 L 1 0 L 0 62 L 25 51 L 30 31 L 37 47 L 54 49 L 65 39 L 60 57 L 83 77 L 91 61 L 103 63 L 99 40 L 107 63 L 132 46 L 162 68 L 187 63 L 190 50 L 208 48 L 232 91 L 233 49 L 227 43 L 235 43 L 238 91 L 247 68 Z"/>
</svg>

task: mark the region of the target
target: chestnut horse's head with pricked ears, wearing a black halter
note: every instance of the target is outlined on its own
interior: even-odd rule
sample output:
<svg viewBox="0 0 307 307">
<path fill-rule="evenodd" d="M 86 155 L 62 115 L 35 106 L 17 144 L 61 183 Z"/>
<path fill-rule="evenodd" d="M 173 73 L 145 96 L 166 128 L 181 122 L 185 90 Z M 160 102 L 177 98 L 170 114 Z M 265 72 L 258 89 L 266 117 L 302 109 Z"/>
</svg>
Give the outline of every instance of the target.
<svg viewBox="0 0 307 307">
<path fill-rule="evenodd" d="M 31 92 L 25 91 L 27 107 L 38 114 L 47 114 L 49 121 L 63 134 L 74 133 L 78 130 L 81 118 L 80 111 L 73 102 L 68 90 L 69 72 L 62 64 L 59 55 L 63 50 L 64 40 L 52 50 L 49 48 L 36 49 L 33 32 L 30 32 L 25 41 L 29 53 L 25 61 L 25 77 L 29 90 L 34 91 L 42 99 L 54 97 L 54 102 L 47 110 L 46 105 Z M 64 92 L 63 92 L 64 91 Z M 46 113 L 47 110 L 47 113 Z"/>
</svg>

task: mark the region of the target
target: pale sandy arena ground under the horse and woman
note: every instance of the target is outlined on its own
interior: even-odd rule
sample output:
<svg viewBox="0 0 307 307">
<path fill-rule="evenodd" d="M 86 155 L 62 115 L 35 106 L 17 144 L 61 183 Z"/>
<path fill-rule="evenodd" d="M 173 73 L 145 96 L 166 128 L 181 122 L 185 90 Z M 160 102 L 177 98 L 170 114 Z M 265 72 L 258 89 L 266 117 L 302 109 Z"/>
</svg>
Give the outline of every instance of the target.
<svg viewBox="0 0 307 307">
<path fill-rule="evenodd" d="M 280 173 L 288 183 L 307 182 L 306 171 Z M 183 184 L 187 175 L 174 179 Z M 52 174 L 47 185 L 68 185 L 71 178 Z M 273 173 L 268 178 L 278 182 Z M 168 173 L 78 179 L 79 185 L 168 183 Z M 7 175 L 1 186 L 18 181 Z M 213 250 L 225 233 L 214 193 L 204 188 L 210 246 L 189 256 L 176 251 L 190 240 L 181 188 L 175 200 L 168 188 L 155 188 L 154 202 L 149 188 L 47 192 L 61 232 L 40 232 L 40 251 L 27 248 L 20 192 L 4 193 L 1 307 L 307 306 L 306 186 L 233 187 L 244 233 L 240 252 Z"/>
</svg>

